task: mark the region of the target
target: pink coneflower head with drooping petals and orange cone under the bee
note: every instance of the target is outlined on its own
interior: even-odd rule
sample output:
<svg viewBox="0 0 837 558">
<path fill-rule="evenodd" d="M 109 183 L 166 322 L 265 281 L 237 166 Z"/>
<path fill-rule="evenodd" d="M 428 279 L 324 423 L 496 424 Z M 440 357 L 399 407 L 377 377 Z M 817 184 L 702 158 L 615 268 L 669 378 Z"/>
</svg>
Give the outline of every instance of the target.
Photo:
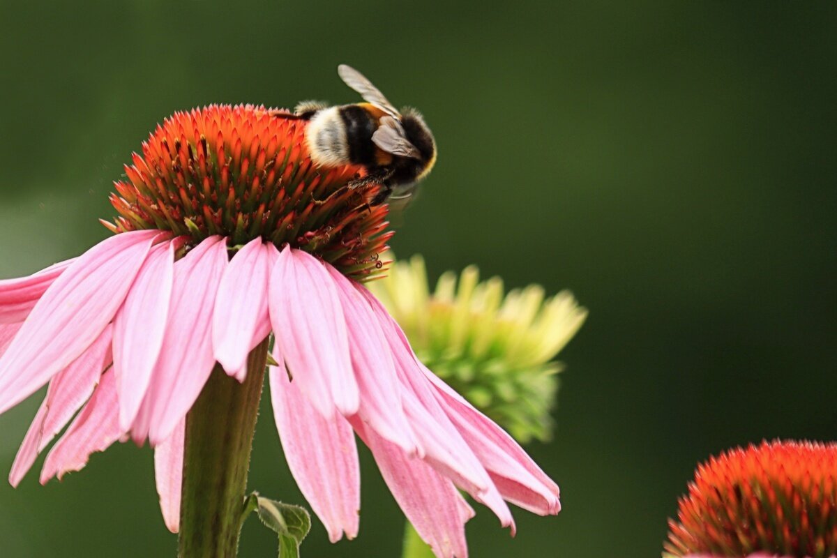
<svg viewBox="0 0 837 558">
<path fill-rule="evenodd" d="M 332 541 L 357 535 L 356 433 L 436 555 L 467 555 L 458 489 L 512 533 L 506 501 L 557 513 L 557 485 L 424 368 L 362 285 L 385 267 L 386 207 L 347 187 L 357 168 L 312 166 L 304 125 L 253 106 L 173 115 L 116 183 L 114 236 L 0 282 L 0 412 L 49 383 L 11 484 L 72 419 L 42 483 L 147 438 L 170 530 L 215 505 L 193 499 L 240 508 L 272 333 L 276 427 Z M 236 452 L 229 494 L 190 488 Z"/>
</svg>

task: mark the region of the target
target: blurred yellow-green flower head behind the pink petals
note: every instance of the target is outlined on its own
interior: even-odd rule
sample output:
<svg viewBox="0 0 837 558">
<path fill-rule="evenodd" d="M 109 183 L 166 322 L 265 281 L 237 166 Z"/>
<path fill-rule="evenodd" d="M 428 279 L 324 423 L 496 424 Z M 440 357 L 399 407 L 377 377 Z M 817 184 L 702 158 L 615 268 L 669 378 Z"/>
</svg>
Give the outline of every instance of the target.
<svg viewBox="0 0 837 558">
<path fill-rule="evenodd" d="M 476 266 L 446 272 L 429 292 L 424 259 L 398 261 L 372 292 L 403 326 L 413 349 L 482 412 L 522 442 L 552 433 L 562 363 L 553 359 L 587 317 L 573 294 L 545 298 L 531 284 L 503 294 Z"/>
</svg>

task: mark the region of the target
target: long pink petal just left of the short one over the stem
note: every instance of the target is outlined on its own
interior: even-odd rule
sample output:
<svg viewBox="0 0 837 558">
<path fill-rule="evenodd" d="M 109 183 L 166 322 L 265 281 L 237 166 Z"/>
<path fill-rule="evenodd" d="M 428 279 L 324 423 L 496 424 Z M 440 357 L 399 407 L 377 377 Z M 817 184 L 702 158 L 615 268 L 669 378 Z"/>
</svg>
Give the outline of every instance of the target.
<svg viewBox="0 0 837 558">
<path fill-rule="evenodd" d="M 152 446 L 174 431 L 212 373 L 212 315 L 226 265 L 226 239 L 218 236 L 206 238 L 174 264 L 166 334 L 146 393 L 149 412 L 137 417 L 150 419 Z"/>
</svg>

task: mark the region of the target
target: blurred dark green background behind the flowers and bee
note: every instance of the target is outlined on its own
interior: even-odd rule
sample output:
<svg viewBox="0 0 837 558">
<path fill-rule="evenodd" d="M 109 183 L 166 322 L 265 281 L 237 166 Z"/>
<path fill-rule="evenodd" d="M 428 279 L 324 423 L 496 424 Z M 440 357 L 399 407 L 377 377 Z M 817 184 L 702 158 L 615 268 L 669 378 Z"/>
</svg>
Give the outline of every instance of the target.
<svg viewBox="0 0 837 558">
<path fill-rule="evenodd" d="M 499 3 L 498 3 L 499 4 Z M 475 556 L 660 555 L 697 461 L 837 427 L 834 3 L 0 1 L 0 274 L 81 253 L 111 181 L 173 110 L 357 100 L 336 64 L 424 111 L 439 162 L 393 239 L 432 276 L 479 264 L 590 309 L 563 352 L 557 432 L 531 453 L 556 518 L 486 509 Z M 39 397 L 0 417 L 11 466 Z M 267 409 L 264 409 L 267 411 Z M 270 414 L 250 484 L 301 502 Z M 362 454 L 361 535 L 403 516 Z M 151 451 L 0 486 L 4 556 L 166 556 Z M 243 556 L 275 555 L 250 520 Z"/>
</svg>

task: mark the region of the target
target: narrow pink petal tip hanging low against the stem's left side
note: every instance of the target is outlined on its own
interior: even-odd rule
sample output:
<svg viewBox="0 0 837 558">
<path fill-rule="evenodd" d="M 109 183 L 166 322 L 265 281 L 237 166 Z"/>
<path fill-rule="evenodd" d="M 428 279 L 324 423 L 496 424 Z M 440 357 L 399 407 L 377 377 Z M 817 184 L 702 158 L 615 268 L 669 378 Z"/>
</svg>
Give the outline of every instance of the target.
<svg viewBox="0 0 837 558">
<path fill-rule="evenodd" d="M 175 427 L 171 436 L 154 448 L 154 479 L 160 496 L 160 509 L 166 527 L 172 533 L 180 530 L 180 490 L 183 479 L 183 442 L 186 419 Z"/>
</svg>

